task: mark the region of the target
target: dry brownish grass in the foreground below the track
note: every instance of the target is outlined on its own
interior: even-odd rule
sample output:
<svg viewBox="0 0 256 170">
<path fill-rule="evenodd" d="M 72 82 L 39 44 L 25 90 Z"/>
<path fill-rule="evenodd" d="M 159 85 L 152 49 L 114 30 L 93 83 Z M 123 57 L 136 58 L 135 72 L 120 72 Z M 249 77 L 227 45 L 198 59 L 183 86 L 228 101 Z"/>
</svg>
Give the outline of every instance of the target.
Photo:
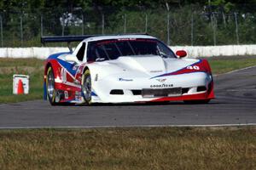
<svg viewBox="0 0 256 170">
<path fill-rule="evenodd" d="M 0 169 L 255 169 L 256 127 L 0 131 Z"/>
</svg>

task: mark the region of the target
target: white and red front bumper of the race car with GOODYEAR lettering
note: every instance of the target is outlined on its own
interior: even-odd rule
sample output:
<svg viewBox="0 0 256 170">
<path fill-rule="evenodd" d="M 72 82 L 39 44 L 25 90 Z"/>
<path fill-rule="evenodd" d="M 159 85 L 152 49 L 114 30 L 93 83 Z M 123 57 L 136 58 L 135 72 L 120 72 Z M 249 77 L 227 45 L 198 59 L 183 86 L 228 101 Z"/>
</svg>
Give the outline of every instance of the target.
<svg viewBox="0 0 256 170">
<path fill-rule="evenodd" d="M 183 74 L 165 77 L 165 82 L 158 78 L 126 78 L 119 81 L 119 77 L 106 77 L 93 82 L 92 103 L 129 103 L 154 102 L 177 100 L 213 99 L 212 76 L 205 72 Z M 132 80 L 132 81 L 131 81 Z M 181 88 L 181 93 L 157 95 L 143 95 L 143 89 L 152 91 L 170 91 L 172 88 Z"/>
</svg>

